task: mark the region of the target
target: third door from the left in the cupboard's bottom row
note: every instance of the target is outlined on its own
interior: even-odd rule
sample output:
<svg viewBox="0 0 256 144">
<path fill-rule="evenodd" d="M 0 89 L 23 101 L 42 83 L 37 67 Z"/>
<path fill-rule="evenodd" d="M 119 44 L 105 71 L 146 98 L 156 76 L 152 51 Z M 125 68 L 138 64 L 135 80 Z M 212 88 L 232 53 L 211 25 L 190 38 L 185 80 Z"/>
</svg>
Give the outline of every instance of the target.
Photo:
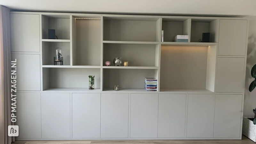
<svg viewBox="0 0 256 144">
<path fill-rule="evenodd" d="M 100 93 L 72 94 L 72 138 L 100 138 Z"/>
</svg>

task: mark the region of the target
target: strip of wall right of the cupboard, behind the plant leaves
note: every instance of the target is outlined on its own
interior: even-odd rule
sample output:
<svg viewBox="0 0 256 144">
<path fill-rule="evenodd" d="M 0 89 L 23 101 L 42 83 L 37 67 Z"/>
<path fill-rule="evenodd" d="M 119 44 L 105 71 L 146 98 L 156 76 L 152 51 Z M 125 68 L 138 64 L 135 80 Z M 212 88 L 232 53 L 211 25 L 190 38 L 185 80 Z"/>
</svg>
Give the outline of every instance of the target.
<svg viewBox="0 0 256 144">
<path fill-rule="evenodd" d="M 256 89 L 249 92 L 249 85 L 254 80 L 251 69 L 256 64 L 256 20 L 250 20 L 248 50 L 245 76 L 244 116 L 254 116 L 253 108 L 256 108 Z"/>
</svg>

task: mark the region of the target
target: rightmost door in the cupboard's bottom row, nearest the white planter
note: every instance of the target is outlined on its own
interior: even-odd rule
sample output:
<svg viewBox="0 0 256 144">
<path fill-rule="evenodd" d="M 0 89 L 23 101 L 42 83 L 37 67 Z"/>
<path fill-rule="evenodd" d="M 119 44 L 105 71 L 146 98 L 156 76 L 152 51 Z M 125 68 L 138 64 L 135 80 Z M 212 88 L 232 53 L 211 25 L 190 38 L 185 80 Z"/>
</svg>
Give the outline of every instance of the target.
<svg viewBox="0 0 256 144">
<path fill-rule="evenodd" d="M 214 138 L 239 138 L 242 116 L 240 94 L 216 94 Z"/>
</svg>

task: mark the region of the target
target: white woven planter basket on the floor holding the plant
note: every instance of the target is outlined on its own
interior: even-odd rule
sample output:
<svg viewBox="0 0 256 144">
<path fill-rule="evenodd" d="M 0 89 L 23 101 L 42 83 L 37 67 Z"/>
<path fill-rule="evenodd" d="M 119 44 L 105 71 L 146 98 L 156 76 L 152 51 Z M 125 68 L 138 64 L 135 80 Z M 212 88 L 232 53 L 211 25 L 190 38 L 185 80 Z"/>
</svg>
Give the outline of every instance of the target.
<svg viewBox="0 0 256 144">
<path fill-rule="evenodd" d="M 248 118 L 252 117 L 243 117 L 243 130 L 242 134 L 248 137 L 249 139 L 256 142 L 256 125 L 253 124 Z"/>
</svg>

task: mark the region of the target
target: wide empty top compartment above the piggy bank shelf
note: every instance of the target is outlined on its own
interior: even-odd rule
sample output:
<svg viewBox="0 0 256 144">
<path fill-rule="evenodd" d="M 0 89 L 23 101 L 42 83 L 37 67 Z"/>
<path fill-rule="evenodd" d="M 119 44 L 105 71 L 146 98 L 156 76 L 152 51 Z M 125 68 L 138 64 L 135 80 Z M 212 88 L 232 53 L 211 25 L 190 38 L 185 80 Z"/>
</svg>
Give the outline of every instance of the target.
<svg viewBox="0 0 256 144">
<path fill-rule="evenodd" d="M 160 16 L 103 15 L 103 40 L 160 42 L 160 23 Z"/>
</svg>

